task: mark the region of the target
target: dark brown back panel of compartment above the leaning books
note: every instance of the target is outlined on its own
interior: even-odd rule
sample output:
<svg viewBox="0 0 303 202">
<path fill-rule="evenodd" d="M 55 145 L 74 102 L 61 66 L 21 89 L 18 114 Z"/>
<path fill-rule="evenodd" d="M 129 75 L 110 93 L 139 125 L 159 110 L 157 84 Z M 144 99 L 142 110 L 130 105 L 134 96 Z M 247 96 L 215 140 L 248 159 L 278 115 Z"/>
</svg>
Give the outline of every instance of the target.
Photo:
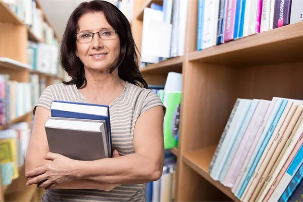
<svg viewBox="0 0 303 202">
<path fill-rule="evenodd" d="M 235 80 L 239 98 L 303 99 L 303 63 L 239 68 Z"/>
</svg>

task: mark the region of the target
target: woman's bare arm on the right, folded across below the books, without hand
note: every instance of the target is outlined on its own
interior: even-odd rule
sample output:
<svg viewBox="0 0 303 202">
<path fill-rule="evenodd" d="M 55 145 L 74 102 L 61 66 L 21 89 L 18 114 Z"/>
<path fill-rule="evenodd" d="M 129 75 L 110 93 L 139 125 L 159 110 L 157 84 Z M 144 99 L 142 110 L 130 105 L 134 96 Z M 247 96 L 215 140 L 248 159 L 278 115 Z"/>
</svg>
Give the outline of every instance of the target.
<svg viewBox="0 0 303 202">
<path fill-rule="evenodd" d="M 135 153 L 89 163 L 76 162 L 77 179 L 114 184 L 139 184 L 158 180 L 163 171 L 163 107 L 154 107 L 139 116 L 133 144 Z"/>
</svg>

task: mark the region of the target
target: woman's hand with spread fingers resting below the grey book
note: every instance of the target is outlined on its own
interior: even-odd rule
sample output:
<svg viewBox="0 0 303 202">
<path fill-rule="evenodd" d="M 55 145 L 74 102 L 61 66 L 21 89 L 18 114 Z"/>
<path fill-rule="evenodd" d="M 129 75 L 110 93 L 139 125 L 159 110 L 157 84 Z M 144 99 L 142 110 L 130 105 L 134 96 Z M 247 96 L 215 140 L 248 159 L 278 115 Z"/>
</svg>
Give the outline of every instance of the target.
<svg viewBox="0 0 303 202">
<path fill-rule="evenodd" d="M 44 159 L 52 162 L 27 172 L 25 175 L 28 179 L 26 185 L 38 184 L 39 188 L 52 188 L 75 179 L 76 160 L 55 153 L 47 153 Z"/>
</svg>

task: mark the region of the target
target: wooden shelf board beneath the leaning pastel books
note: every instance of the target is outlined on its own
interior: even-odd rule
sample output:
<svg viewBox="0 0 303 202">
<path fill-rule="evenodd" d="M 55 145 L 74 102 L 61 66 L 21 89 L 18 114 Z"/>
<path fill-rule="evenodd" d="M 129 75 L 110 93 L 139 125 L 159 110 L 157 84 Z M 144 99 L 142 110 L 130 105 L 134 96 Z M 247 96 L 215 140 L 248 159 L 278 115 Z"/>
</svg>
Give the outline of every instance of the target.
<svg viewBox="0 0 303 202">
<path fill-rule="evenodd" d="M 219 181 L 215 181 L 211 178 L 209 173 L 209 166 L 212 161 L 213 155 L 215 154 L 215 150 L 217 145 L 206 147 L 203 149 L 198 149 L 194 151 L 189 151 L 183 155 L 183 162 L 187 164 L 190 168 L 220 189 L 223 193 L 225 193 L 228 197 L 233 199 L 234 201 L 239 201 L 239 199 L 231 192 L 231 189 L 225 187 Z"/>
</svg>

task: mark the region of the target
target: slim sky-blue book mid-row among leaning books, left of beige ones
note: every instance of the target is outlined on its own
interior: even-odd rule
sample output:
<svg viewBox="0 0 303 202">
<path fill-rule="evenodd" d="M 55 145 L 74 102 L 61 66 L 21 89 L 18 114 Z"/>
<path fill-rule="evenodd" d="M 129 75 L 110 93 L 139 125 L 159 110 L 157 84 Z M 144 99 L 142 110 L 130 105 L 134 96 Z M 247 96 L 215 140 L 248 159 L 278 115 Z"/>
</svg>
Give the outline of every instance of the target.
<svg viewBox="0 0 303 202">
<path fill-rule="evenodd" d="M 279 120 L 280 120 L 280 117 L 281 117 L 281 115 L 282 115 L 282 113 L 283 113 L 283 111 L 284 111 L 287 103 L 288 103 L 288 99 L 283 99 L 283 102 L 282 102 L 282 104 L 281 104 L 281 106 L 279 108 L 278 113 L 275 116 L 274 121 L 272 122 L 272 124 L 270 126 L 270 129 L 268 130 L 268 132 L 267 132 L 267 134 L 266 134 L 266 136 L 264 138 L 264 141 L 262 142 L 262 145 L 261 145 L 260 149 L 258 149 L 258 154 L 254 158 L 254 163 L 252 163 L 251 167 L 249 168 L 249 172 L 247 173 L 247 175 L 243 175 L 242 176 L 242 179 L 241 179 L 242 183 L 240 182 L 240 184 L 239 184 L 239 190 L 236 193 L 236 196 L 238 196 L 238 198 L 242 197 L 242 195 L 243 195 L 243 193 L 245 191 L 245 188 L 246 188 L 247 184 L 249 183 L 249 180 L 250 180 L 252 174 L 254 174 L 254 171 L 255 171 L 255 169 L 256 169 L 259 161 L 260 161 L 260 158 L 261 158 L 261 156 L 262 156 L 262 154 L 264 152 L 264 149 L 265 149 L 266 145 L 268 144 L 268 141 L 271 138 L 271 136 L 272 136 L 272 134 L 273 134 L 273 132 L 274 132 L 274 130 L 275 130 L 275 128 L 276 128 Z"/>
</svg>

